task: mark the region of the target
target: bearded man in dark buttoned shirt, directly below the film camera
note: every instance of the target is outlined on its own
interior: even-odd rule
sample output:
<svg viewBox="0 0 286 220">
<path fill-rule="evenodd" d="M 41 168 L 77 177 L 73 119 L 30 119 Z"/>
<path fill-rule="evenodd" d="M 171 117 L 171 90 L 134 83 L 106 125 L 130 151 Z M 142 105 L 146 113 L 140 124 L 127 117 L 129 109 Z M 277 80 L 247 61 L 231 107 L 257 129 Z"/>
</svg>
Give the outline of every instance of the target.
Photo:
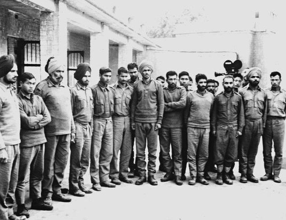
<svg viewBox="0 0 286 220">
<path fill-rule="evenodd" d="M 214 163 L 217 165 L 215 183 L 231 185 L 229 171 L 237 158 L 238 137 L 244 127 L 244 109 L 241 96 L 233 91 L 233 77 L 225 76 L 222 84 L 224 92 L 214 97 L 211 114 L 212 133 L 217 137 L 214 145 Z"/>
</svg>

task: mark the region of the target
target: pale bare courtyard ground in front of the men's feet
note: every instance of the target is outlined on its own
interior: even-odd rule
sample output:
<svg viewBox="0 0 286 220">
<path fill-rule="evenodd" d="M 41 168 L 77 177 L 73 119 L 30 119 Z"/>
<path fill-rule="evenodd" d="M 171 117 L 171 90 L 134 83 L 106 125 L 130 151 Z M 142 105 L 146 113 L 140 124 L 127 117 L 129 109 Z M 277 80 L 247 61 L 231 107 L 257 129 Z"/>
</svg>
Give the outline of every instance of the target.
<svg viewBox="0 0 286 220">
<path fill-rule="evenodd" d="M 157 152 L 157 154 L 159 151 Z M 157 158 L 157 169 L 159 161 Z M 63 187 L 68 187 L 66 169 Z M 264 175 L 262 144 L 259 147 L 254 170 L 256 177 Z M 164 173 L 155 175 L 159 181 Z M 210 185 L 197 183 L 182 186 L 174 182 L 160 182 L 158 186 L 144 183 L 141 186 L 122 183 L 116 188 L 102 188 L 85 197 L 74 197 L 70 203 L 53 202 L 53 211 L 30 210 L 30 220 L 177 220 L 177 219 L 286 219 L 285 190 L 286 170 L 281 170 L 282 183 L 272 180 L 259 183 L 239 182 L 238 162 L 235 165 L 236 180 L 233 185 L 218 186 L 215 174 L 210 173 Z M 133 178 L 133 180 L 136 180 Z M 89 174 L 85 182 L 91 187 Z M 28 192 L 27 192 L 28 193 Z M 30 203 L 28 204 L 30 208 Z"/>
</svg>

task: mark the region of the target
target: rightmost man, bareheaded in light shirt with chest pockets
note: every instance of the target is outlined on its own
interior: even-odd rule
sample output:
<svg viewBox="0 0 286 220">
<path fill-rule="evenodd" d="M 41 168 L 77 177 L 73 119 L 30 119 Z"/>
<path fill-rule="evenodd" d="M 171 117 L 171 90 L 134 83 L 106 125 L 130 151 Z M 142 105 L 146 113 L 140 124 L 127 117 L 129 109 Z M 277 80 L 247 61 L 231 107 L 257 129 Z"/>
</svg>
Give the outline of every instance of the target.
<svg viewBox="0 0 286 220">
<path fill-rule="evenodd" d="M 280 87 L 280 72 L 270 74 L 271 88 L 266 90 L 267 95 L 267 118 L 263 131 L 263 160 L 265 175 L 260 178 L 262 181 L 269 179 L 280 183 L 279 177 L 282 165 L 283 141 L 285 134 L 286 117 L 286 90 Z M 274 143 L 274 162 L 272 160 L 272 141 Z"/>
</svg>

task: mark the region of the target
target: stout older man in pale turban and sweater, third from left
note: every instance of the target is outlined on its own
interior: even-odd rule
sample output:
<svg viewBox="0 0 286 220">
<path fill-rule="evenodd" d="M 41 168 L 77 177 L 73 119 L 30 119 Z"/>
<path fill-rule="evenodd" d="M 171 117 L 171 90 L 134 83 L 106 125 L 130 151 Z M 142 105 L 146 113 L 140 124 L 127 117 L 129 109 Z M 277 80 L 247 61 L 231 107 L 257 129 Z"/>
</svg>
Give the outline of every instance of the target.
<svg viewBox="0 0 286 220">
<path fill-rule="evenodd" d="M 44 178 L 42 197 L 46 204 L 52 200 L 70 202 L 71 198 L 61 193 L 61 183 L 69 158 L 70 142 L 74 142 L 75 126 L 71 112 L 71 94 L 62 84 L 65 65 L 57 58 L 48 60 L 46 68 L 49 76 L 35 89 L 35 94 L 44 100 L 52 121 L 45 126 Z"/>
</svg>

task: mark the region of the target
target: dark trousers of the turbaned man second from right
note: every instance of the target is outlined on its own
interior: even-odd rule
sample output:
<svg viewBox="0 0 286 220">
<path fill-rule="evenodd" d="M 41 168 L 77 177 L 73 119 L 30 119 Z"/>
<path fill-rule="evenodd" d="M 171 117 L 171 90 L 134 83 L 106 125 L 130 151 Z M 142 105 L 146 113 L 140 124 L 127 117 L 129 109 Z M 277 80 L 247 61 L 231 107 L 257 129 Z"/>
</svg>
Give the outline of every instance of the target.
<svg viewBox="0 0 286 220">
<path fill-rule="evenodd" d="M 262 133 L 262 119 L 256 121 L 245 119 L 244 132 L 241 137 L 241 157 L 239 159 L 240 172 L 243 175 L 253 174 L 255 157 Z"/>
</svg>

